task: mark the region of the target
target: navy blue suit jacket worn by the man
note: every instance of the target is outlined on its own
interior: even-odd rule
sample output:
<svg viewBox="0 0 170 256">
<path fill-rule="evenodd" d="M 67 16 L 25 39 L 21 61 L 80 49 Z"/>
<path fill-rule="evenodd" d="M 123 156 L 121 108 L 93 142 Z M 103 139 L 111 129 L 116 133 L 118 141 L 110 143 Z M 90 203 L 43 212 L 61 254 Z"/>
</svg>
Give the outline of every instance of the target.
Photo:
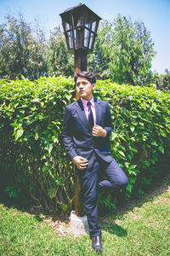
<svg viewBox="0 0 170 256">
<path fill-rule="evenodd" d="M 108 163 L 113 160 L 109 142 L 111 135 L 111 110 L 109 104 L 94 98 L 94 105 L 96 125 L 100 125 L 105 129 L 105 137 L 92 136 L 92 128 L 88 123 L 81 100 L 72 102 L 65 108 L 62 131 L 67 154 L 71 159 L 76 155 L 88 159 L 88 170 L 93 166 L 95 154 Z"/>
</svg>

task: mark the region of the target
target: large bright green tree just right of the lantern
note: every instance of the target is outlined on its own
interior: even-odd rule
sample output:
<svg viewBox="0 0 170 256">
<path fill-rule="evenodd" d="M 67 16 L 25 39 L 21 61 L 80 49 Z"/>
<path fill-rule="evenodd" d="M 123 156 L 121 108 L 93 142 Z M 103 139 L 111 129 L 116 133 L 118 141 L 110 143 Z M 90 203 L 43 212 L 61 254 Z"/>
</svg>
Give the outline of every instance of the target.
<svg viewBox="0 0 170 256">
<path fill-rule="evenodd" d="M 91 69 L 92 63 L 99 64 L 101 76 L 119 84 L 150 83 L 151 61 L 156 52 L 143 22 L 132 22 L 131 18 L 117 15 L 111 23 L 104 21 L 98 34 L 94 54 L 99 54 L 91 56 Z"/>
</svg>

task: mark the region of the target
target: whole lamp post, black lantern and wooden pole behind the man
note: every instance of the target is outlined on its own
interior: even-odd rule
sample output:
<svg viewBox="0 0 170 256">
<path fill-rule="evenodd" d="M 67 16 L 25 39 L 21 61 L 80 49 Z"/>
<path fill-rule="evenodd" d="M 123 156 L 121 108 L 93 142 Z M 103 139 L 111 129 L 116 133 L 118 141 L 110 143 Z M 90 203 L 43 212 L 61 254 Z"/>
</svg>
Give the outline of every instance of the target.
<svg viewBox="0 0 170 256">
<path fill-rule="evenodd" d="M 76 76 L 78 72 L 87 70 L 87 56 L 94 49 L 94 41 L 101 18 L 82 3 L 66 9 L 60 16 L 67 49 L 75 54 L 74 75 Z M 75 213 L 78 217 L 82 217 L 81 184 L 77 171 L 75 172 Z"/>
</svg>

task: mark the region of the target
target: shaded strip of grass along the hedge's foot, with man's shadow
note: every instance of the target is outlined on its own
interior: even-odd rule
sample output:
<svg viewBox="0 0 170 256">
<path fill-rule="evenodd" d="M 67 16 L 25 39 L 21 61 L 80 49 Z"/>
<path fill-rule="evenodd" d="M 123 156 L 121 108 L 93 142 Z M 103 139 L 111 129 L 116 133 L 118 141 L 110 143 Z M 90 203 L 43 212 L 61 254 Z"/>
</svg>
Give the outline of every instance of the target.
<svg viewBox="0 0 170 256">
<path fill-rule="evenodd" d="M 156 196 L 161 195 L 167 191 L 169 185 L 170 174 L 167 173 L 161 180 L 155 182 L 154 185 L 150 185 L 150 188 L 145 191 L 144 195 L 141 195 L 136 199 L 121 199 L 121 204 L 117 207 L 116 210 L 111 210 L 108 212 L 108 209 L 103 208 L 102 211 L 99 209 L 99 219 L 102 230 L 105 230 L 106 232 L 116 236 L 127 236 L 127 230 L 124 230 L 120 225 L 116 224 L 117 216 L 122 218 L 123 214 L 126 214 L 129 211 L 133 211 L 134 207 L 142 207 L 145 202 L 153 201 Z M 38 222 L 50 219 L 49 223 L 53 226 L 54 224 L 57 226 L 57 224 L 69 223 L 69 217 L 52 213 L 47 214 L 47 212 L 44 212 L 42 207 L 35 206 L 27 209 L 20 207 L 17 204 L 11 205 L 9 201 L 3 201 L 0 199 L 0 202 L 2 202 L 5 207 L 14 207 L 19 211 L 33 215 Z"/>
</svg>

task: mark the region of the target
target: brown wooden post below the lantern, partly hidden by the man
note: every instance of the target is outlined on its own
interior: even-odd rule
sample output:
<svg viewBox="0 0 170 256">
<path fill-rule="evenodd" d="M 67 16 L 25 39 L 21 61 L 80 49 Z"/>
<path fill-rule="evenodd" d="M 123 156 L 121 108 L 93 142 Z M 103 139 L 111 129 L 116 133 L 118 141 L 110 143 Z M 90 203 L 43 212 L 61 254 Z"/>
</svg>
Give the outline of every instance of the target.
<svg viewBox="0 0 170 256">
<path fill-rule="evenodd" d="M 80 71 L 87 71 L 87 64 L 88 64 L 88 53 L 85 49 L 77 49 L 75 50 L 75 72 L 74 75 L 76 76 Z M 78 99 L 79 96 L 76 98 Z M 84 215 L 84 207 L 82 204 L 82 194 L 81 194 L 81 183 L 79 177 L 79 170 L 75 169 L 75 214 L 78 217 L 82 217 Z"/>
</svg>

